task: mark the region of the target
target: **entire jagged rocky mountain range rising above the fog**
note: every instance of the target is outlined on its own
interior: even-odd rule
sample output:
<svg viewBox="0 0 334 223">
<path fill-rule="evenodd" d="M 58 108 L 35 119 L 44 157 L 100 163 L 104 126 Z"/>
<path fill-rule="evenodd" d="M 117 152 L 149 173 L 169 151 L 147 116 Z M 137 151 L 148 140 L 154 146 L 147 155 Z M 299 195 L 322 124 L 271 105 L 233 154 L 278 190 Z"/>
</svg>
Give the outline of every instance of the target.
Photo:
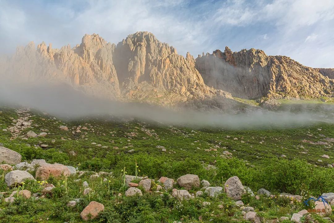
<svg viewBox="0 0 334 223">
<path fill-rule="evenodd" d="M 334 69 L 306 67 L 253 48 L 225 47 L 196 59 L 188 52 L 184 58 L 150 32 L 128 35 L 117 45 L 98 34 L 60 49 L 30 42 L 1 57 L 0 66 L 0 76 L 23 83 L 60 82 L 90 96 L 168 107 L 221 110 L 236 103 L 234 97 L 334 97 Z"/>
</svg>

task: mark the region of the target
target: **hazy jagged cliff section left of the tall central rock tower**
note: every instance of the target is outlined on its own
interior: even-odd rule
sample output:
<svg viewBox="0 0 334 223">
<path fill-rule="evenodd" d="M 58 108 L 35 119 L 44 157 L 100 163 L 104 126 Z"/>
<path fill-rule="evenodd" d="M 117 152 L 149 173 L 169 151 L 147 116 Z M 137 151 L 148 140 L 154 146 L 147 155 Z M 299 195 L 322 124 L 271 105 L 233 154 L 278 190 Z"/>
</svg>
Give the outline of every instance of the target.
<svg viewBox="0 0 334 223">
<path fill-rule="evenodd" d="M 18 47 L 13 57 L 2 62 L 2 76 L 14 77 L 18 82 L 47 80 L 64 82 L 90 95 L 103 94 L 106 98 L 119 97 L 120 89 L 112 53 L 115 44 L 107 43 L 99 35 L 85 35 L 80 45 L 60 49 L 35 47 L 30 42 Z"/>
</svg>

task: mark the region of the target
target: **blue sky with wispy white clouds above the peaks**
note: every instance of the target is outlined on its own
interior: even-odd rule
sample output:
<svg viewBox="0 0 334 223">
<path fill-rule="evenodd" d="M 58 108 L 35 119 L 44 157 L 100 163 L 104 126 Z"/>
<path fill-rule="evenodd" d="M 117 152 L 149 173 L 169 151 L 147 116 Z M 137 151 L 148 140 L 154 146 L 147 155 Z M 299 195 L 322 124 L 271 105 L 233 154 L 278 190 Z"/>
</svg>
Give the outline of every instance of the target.
<svg viewBox="0 0 334 223">
<path fill-rule="evenodd" d="M 257 48 L 334 68 L 334 0 L 0 0 L 0 30 L 5 53 L 29 41 L 74 46 L 98 33 L 117 44 L 150 31 L 195 58 L 225 46 Z"/>
</svg>

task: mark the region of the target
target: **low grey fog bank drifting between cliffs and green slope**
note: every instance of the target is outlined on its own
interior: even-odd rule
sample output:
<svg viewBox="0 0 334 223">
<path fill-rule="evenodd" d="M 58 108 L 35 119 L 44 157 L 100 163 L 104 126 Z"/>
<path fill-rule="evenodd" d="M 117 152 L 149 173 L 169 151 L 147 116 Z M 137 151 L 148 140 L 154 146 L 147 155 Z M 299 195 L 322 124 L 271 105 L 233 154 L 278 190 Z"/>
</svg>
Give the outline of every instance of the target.
<svg viewBox="0 0 334 223">
<path fill-rule="evenodd" d="M 82 118 L 112 115 L 120 118 L 135 118 L 156 121 L 162 124 L 193 127 L 266 128 L 289 127 L 316 122 L 333 123 L 334 106 L 328 105 L 326 112 L 301 111 L 292 113 L 271 112 L 254 109 L 243 114 L 219 114 L 198 112 L 189 109 L 177 111 L 147 104 L 112 102 L 82 94 L 72 87 L 61 84 L 0 82 L 0 102 L 34 108 L 60 118 Z"/>
</svg>

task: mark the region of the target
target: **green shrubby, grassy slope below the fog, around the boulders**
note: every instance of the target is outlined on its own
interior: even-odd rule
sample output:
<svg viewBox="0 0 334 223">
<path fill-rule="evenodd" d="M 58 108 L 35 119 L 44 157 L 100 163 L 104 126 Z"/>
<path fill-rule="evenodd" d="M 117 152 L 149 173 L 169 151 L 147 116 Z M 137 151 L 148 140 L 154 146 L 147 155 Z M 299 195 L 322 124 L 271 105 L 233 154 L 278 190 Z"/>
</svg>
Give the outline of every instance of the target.
<svg viewBox="0 0 334 223">
<path fill-rule="evenodd" d="M 189 201 L 171 197 L 170 191 L 143 193 L 141 197 L 119 196 L 126 190 L 122 185 L 122 170 L 125 168 L 128 175 L 135 175 L 136 162 L 139 175 L 150 179 L 164 176 L 176 180 L 185 174 L 196 174 L 212 186 L 222 186 L 229 177 L 238 176 L 254 192 L 265 188 L 277 196 L 260 196 L 259 200 L 247 195 L 242 198 L 264 222 L 277 222 L 282 216 L 291 217 L 292 213 L 307 208 L 302 202 L 291 203 L 288 198 L 278 196 L 280 193 L 303 195 L 307 199 L 310 195 L 334 192 L 334 169 L 329 167 L 334 163 L 334 125 L 331 124 L 279 129 L 202 129 L 113 117 L 60 120 L 30 111 L 32 125 L 20 135 L 29 130 L 48 134 L 23 139 L 13 138 L 9 130 L 2 130 L 13 126 L 12 120 L 19 118 L 16 110 L 3 106 L 0 111 L 0 143 L 19 152 L 22 161 L 45 159 L 48 163 L 88 171 L 80 181 L 74 181 L 77 175 L 48 179 L 56 188 L 46 198 L 18 197 L 11 204 L 1 199 L 0 222 L 80 222 L 79 214 L 90 201 L 105 206 L 105 211 L 92 222 L 246 222 L 239 207 L 225 194 L 216 198 L 203 194 Z M 59 129 L 60 125 L 69 130 Z M 41 148 L 42 144 L 46 148 Z M 231 152 L 232 157 L 227 157 L 224 151 Z M 324 154 L 329 158 L 321 157 Z M 216 169 L 207 170 L 208 165 Z M 105 181 L 103 177 L 90 178 L 100 171 L 112 174 Z M 9 189 L 4 183 L 6 173 L 0 171 L 0 192 L 17 190 Z M 31 174 L 35 176 L 33 171 Z M 83 181 L 89 183 L 92 193 L 82 194 Z M 41 188 L 36 181 L 24 185 L 32 193 L 41 193 Z M 199 189 L 189 192 L 196 193 Z M 77 206 L 66 206 L 77 198 L 81 198 Z M 203 202 L 210 204 L 203 205 Z M 332 215 L 327 217 L 334 220 Z M 320 218 L 318 222 L 328 220 Z"/>
</svg>

